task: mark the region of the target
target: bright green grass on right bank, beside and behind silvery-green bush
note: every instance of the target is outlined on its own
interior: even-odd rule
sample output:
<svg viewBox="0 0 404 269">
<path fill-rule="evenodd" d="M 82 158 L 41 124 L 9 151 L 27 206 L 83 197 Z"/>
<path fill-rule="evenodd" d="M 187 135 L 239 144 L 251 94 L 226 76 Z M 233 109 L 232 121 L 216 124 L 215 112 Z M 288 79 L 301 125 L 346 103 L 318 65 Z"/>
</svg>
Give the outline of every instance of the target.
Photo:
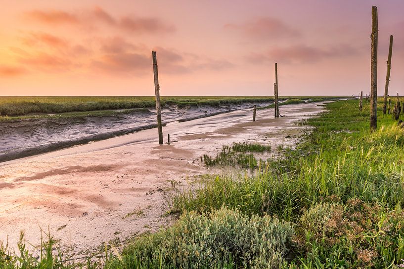
<svg viewBox="0 0 404 269">
<path fill-rule="evenodd" d="M 380 101 L 380 100 L 379 100 Z M 220 176 L 173 197 L 171 209 L 208 214 L 226 205 L 292 223 L 286 268 L 393 268 L 404 259 L 404 130 L 369 104 L 327 105 L 307 120 L 307 142 L 253 177 Z"/>
</svg>

